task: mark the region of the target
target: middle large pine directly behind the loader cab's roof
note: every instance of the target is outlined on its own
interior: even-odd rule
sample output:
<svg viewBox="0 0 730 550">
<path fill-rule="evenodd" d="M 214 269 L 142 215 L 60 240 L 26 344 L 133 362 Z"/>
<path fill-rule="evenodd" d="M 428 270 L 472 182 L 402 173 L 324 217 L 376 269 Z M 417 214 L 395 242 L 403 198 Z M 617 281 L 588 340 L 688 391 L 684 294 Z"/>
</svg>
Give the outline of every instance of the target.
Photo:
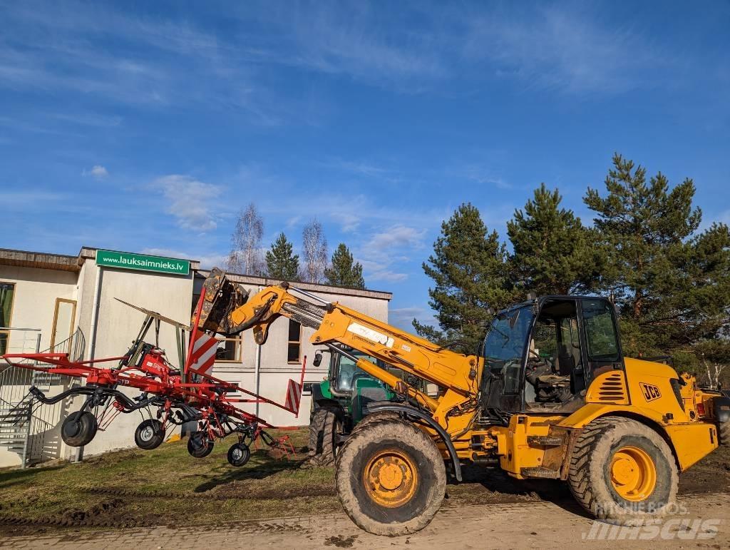
<svg viewBox="0 0 730 550">
<path fill-rule="evenodd" d="M 515 280 L 538 296 L 591 289 L 602 272 L 602 250 L 580 218 L 560 208 L 561 200 L 542 183 L 507 223 Z"/>
</svg>

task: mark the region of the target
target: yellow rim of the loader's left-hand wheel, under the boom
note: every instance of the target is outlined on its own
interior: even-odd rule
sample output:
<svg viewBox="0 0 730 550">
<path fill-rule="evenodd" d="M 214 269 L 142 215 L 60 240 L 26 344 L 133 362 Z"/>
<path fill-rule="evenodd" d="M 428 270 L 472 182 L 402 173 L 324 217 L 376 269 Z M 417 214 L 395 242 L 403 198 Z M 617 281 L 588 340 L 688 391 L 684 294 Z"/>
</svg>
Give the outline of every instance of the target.
<svg viewBox="0 0 730 550">
<path fill-rule="evenodd" d="M 401 451 L 381 451 L 365 466 L 363 484 L 375 503 L 385 508 L 397 508 L 407 503 L 415 494 L 418 487 L 418 468 Z"/>
</svg>

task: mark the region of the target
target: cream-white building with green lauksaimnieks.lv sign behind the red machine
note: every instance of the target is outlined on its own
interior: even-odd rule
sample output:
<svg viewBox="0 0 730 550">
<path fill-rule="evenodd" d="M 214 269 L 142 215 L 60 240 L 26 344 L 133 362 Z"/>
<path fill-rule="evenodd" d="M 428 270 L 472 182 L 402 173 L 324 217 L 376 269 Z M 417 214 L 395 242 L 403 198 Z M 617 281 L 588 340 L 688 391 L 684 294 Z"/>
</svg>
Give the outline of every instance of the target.
<svg viewBox="0 0 730 550">
<path fill-rule="evenodd" d="M 145 315 L 115 298 L 189 324 L 193 303 L 206 275 L 198 261 L 96 248 L 82 248 L 77 256 L 0 249 L 0 355 L 49 348 L 69 351 L 83 359 L 123 355 L 137 336 Z M 247 275 L 228 278 L 253 292 L 279 282 Z M 388 320 L 392 296 L 388 292 L 309 283 L 297 286 L 330 302 L 341 302 L 381 321 Z M 315 353 L 309 342 L 312 332 L 280 318 L 260 348 L 250 332 L 224 340 L 219 345 L 213 374 L 283 403 L 288 379 L 299 381 L 304 356 L 309 359 L 305 382 L 321 381 L 326 374 L 326 364 L 319 368 L 311 366 Z M 153 342 L 150 338 L 154 338 L 153 331 L 146 338 Z M 168 359 L 177 364 L 172 326 L 162 324 L 159 345 L 166 350 Z M 68 389 L 72 381 L 38 375 L 31 380 L 30 371 L 4 369 L 5 366 L 0 365 L 0 467 L 20 465 L 24 455 L 30 463 L 73 457 L 76 450 L 66 448 L 58 429 L 68 413 L 80 408 L 81 397 L 45 405 L 36 410 L 30 422 L 18 419 L 18 410 L 27 402 L 23 398 L 31 383 L 53 395 Z M 250 404 L 247 408 L 278 426 L 309 423 L 307 395 L 302 397 L 299 418 L 273 405 Z M 133 446 L 134 428 L 139 421 L 139 413 L 119 415 L 85 447 L 84 454 Z M 27 444 L 20 432 L 30 433 Z"/>
</svg>

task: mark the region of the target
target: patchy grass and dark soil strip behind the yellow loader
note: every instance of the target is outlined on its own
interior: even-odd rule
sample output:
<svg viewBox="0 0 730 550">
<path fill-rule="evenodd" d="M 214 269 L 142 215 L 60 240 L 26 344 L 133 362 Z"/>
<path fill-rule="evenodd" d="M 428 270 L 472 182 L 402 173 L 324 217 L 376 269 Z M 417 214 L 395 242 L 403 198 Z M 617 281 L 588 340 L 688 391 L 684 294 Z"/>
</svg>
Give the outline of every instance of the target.
<svg viewBox="0 0 730 550">
<path fill-rule="evenodd" d="M 260 449 L 250 462 L 226 462 L 228 444 L 193 459 L 185 441 L 155 451 L 131 449 L 56 464 L 0 471 L 0 537 L 65 535 L 105 528 L 179 529 L 282 516 L 342 513 L 332 468 L 305 467 L 304 430 L 289 435 L 297 453 Z M 232 442 L 231 442 L 232 443 Z M 469 467 L 462 484 L 447 486 L 443 509 L 550 503 L 580 513 L 566 484 L 520 482 L 499 470 Z M 730 490 L 730 448 L 721 448 L 680 475 L 680 494 Z"/>
</svg>

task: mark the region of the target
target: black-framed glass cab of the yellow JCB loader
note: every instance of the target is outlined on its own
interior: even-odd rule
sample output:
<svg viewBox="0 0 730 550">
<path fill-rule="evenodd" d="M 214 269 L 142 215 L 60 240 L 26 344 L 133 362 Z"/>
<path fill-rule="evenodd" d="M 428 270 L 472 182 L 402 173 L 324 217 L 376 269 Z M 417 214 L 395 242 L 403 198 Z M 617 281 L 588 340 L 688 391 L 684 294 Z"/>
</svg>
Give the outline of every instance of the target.
<svg viewBox="0 0 730 550">
<path fill-rule="evenodd" d="M 484 345 L 483 399 L 505 412 L 569 413 L 604 370 L 623 368 L 612 304 L 547 296 L 498 313 Z"/>
</svg>

